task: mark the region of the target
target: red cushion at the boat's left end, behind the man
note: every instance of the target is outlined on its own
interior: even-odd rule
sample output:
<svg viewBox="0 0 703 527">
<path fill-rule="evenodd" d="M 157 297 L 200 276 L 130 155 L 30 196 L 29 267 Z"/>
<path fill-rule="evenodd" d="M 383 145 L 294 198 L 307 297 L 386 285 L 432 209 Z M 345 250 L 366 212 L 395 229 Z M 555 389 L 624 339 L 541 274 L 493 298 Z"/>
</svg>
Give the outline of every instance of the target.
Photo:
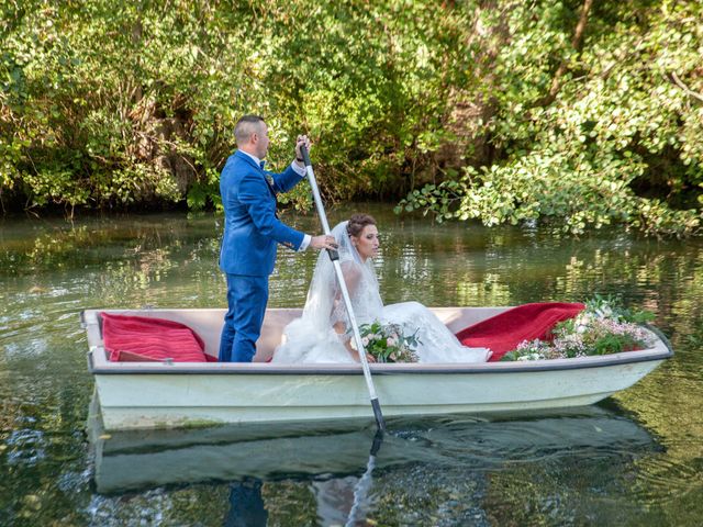
<svg viewBox="0 0 703 527">
<path fill-rule="evenodd" d="M 185 324 L 164 318 L 110 313 L 100 313 L 100 316 L 102 340 L 111 361 L 217 361 L 204 352 L 205 344 L 202 338 Z"/>
</svg>

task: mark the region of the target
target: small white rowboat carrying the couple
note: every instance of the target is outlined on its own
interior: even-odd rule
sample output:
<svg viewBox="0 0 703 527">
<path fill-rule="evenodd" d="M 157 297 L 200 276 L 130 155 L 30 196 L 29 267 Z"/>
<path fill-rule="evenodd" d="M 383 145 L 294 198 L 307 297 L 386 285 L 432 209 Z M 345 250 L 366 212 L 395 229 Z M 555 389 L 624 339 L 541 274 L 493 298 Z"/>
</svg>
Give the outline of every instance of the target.
<svg viewBox="0 0 703 527">
<path fill-rule="evenodd" d="M 453 332 L 510 307 L 434 307 Z M 360 365 L 268 363 L 286 325 L 301 310 L 266 312 L 252 363 L 112 362 L 100 313 L 187 325 L 216 357 L 224 310 L 87 310 L 88 368 L 107 430 L 369 418 Z M 484 363 L 371 365 L 383 415 L 487 414 L 582 406 L 625 390 L 673 356 L 651 334 L 649 349 L 576 359 Z"/>
</svg>

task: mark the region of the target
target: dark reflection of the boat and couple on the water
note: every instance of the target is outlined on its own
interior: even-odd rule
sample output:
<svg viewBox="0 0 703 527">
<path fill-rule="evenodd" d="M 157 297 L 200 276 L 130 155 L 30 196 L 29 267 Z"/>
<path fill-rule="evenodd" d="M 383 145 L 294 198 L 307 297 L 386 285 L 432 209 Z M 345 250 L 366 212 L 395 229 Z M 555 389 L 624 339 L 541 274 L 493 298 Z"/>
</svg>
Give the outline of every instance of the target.
<svg viewBox="0 0 703 527">
<path fill-rule="evenodd" d="M 419 466 L 437 473 L 460 466 L 467 473 L 484 473 L 516 461 L 563 457 L 570 463 L 574 455 L 629 457 L 659 450 L 646 429 L 601 406 L 488 418 L 390 419 L 390 433 L 371 458 L 373 463 L 369 451 L 376 429 L 369 421 L 328 422 L 314 428 L 299 423 L 105 433 L 99 412 L 91 415 L 99 493 L 231 482 L 231 515 L 253 515 L 255 525 L 265 523 L 265 516 L 257 515 L 266 515 L 260 492 L 266 481 L 310 481 L 319 516 L 338 523 L 354 504 L 357 514 L 364 513 L 360 491 L 372 486 L 372 468 L 377 474 L 398 474 Z"/>
</svg>

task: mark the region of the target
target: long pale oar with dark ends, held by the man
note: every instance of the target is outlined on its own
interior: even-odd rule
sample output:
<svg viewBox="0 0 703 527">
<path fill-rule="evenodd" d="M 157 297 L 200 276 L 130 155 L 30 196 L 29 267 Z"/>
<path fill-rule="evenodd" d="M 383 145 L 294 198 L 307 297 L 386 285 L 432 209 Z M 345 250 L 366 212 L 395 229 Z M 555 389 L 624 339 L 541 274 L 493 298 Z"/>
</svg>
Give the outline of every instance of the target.
<svg viewBox="0 0 703 527">
<path fill-rule="evenodd" d="M 327 223 L 327 214 L 325 214 L 325 208 L 322 204 L 322 198 L 320 197 L 320 189 L 317 188 L 317 181 L 315 180 L 315 172 L 312 169 L 310 162 L 310 155 L 308 148 L 301 146 L 300 153 L 303 155 L 305 161 L 305 172 L 308 173 L 308 180 L 310 181 L 310 188 L 312 189 L 312 195 L 315 200 L 315 206 L 317 208 L 317 214 L 320 215 L 320 222 L 322 223 L 322 229 L 325 235 L 330 235 L 330 224 Z M 369 362 L 366 359 L 366 348 L 361 343 L 361 334 L 354 316 L 354 307 L 352 307 L 352 300 L 349 299 L 349 291 L 347 290 L 347 283 L 344 280 L 342 273 L 342 266 L 339 266 L 339 254 L 336 250 L 327 249 L 330 259 L 334 267 L 339 282 L 339 290 L 342 291 L 342 298 L 344 299 L 344 305 L 349 314 L 349 322 L 352 323 L 352 329 L 354 332 L 354 340 L 356 343 L 356 349 L 359 351 L 359 359 L 361 360 L 361 368 L 364 370 L 364 377 L 366 378 L 366 386 L 369 391 L 369 397 L 371 399 L 371 407 L 373 408 L 373 415 L 376 416 L 376 424 L 381 433 L 386 431 L 386 422 L 383 421 L 383 414 L 381 413 L 381 405 L 378 402 L 378 395 L 376 395 L 376 388 L 373 386 L 373 380 L 371 379 L 371 370 L 369 369 Z"/>
</svg>

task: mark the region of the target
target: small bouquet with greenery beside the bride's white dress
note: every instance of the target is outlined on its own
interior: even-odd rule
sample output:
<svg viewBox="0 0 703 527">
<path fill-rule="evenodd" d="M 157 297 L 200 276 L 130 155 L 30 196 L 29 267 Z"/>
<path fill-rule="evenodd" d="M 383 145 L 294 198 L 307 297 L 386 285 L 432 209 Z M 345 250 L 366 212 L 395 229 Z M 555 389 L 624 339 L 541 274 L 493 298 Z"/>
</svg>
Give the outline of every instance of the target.
<svg viewBox="0 0 703 527">
<path fill-rule="evenodd" d="M 377 362 L 417 362 L 417 332 L 406 336 L 399 324 L 361 324 L 361 344 Z M 354 340 L 352 340 L 354 345 Z"/>
</svg>

